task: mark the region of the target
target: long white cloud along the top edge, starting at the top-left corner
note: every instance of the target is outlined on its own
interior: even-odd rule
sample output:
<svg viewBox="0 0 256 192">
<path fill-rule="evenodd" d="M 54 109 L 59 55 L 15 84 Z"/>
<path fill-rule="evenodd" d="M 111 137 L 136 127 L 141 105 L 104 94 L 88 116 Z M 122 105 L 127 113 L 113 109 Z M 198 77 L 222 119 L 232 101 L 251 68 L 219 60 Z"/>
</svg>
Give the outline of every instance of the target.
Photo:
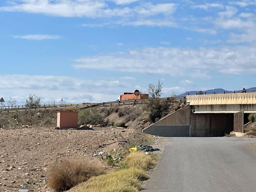
<svg viewBox="0 0 256 192">
<path fill-rule="evenodd" d="M 115 0 L 124 4 L 134 0 Z M 152 16 L 169 15 L 175 11 L 174 3 L 143 3 L 132 8 L 109 8 L 104 0 L 10 0 L 9 6 L 0 7 L 0 11 L 20 11 L 39 13 L 61 17 L 90 17 L 104 18 L 116 16 Z"/>
</svg>

